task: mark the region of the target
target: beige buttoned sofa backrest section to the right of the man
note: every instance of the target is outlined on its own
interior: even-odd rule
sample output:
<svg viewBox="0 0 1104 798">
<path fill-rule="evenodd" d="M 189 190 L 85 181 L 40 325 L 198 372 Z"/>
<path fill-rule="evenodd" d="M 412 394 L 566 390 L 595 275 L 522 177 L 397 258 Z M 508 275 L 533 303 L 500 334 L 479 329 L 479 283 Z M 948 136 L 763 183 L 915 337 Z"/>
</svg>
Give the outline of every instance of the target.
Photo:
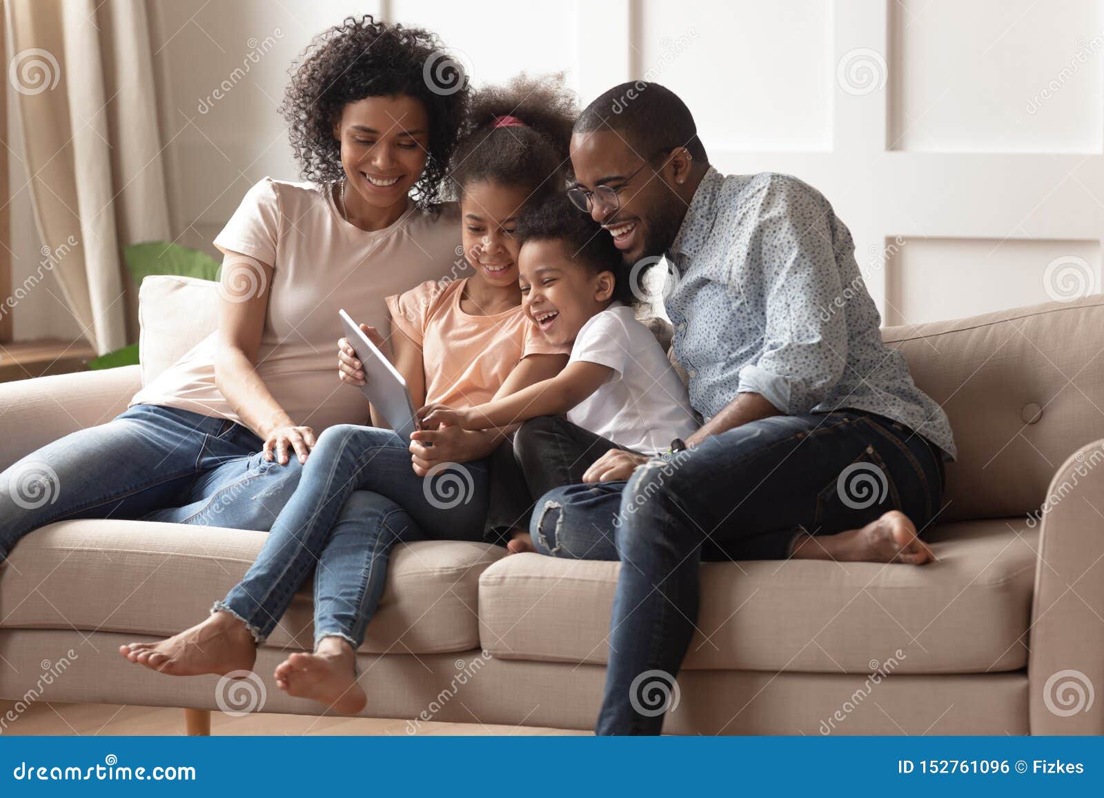
<svg viewBox="0 0 1104 798">
<path fill-rule="evenodd" d="M 1104 438 L 1104 296 L 882 330 L 958 446 L 940 521 L 1020 515 Z"/>
</svg>

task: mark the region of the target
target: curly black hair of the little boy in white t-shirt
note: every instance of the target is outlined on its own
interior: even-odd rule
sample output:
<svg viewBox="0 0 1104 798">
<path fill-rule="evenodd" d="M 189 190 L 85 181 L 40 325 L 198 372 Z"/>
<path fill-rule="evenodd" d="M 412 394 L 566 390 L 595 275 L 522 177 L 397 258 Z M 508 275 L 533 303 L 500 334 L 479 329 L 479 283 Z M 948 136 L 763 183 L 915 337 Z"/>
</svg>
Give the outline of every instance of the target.
<svg viewBox="0 0 1104 798">
<path fill-rule="evenodd" d="M 560 242 L 564 255 L 591 274 L 613 273 L 612 299 L 626 305 L 639 304 L 629 283 L 629 268 L 614 245 L 613 236 L 575 208 L 565 195 L 554 194 L 540 205 L 530 208 L 518 220 L 514 237 L 522 246 L 527 241 Z"/>
</svg>

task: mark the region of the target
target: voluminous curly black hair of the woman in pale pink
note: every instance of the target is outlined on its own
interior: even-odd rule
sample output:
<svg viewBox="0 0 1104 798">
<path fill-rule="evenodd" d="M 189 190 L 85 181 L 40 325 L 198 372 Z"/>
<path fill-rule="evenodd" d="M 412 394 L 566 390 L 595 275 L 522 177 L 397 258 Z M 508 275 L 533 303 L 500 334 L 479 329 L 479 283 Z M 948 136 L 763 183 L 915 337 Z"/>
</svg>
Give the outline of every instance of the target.
<svg viewBox="0 0 1104 798">
<path fill-rule="evenodd" d="M 333 125 L 346 105 L 405 95 L 420 100 L 429 117 L 428 157 L 412 196 L 420 208 L 440 201 L 470 92 L 463 67 L 435 34 L 376 22 L 371 14 L 347 17 L 315 36 L 290 74 L 280 114 L 304 180 L 332 183 L 344 177 Z"/>
</svg>

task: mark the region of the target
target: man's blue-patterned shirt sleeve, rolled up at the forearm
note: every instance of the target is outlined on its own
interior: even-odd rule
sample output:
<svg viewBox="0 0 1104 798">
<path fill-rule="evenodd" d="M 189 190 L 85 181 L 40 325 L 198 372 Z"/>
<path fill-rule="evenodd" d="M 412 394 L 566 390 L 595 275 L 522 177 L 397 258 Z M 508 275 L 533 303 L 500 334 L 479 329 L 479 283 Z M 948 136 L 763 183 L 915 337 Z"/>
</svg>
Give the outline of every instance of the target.
<svg viewBox="0 0 1104 798">
<path fill-rule="evenodd" d="M 766 322 L 761 354 L 740 370 L 737 392 L 761 394 L 788 415 L 808 413 L 847 368 L 831 206 L 785 175 L 772 178 L 749 201 L 757 203 L 760 223 L 755 252 L 747 254 L 762 265 Z M 850 251 L 847 257 L 853 257 Z"/>
</svg>

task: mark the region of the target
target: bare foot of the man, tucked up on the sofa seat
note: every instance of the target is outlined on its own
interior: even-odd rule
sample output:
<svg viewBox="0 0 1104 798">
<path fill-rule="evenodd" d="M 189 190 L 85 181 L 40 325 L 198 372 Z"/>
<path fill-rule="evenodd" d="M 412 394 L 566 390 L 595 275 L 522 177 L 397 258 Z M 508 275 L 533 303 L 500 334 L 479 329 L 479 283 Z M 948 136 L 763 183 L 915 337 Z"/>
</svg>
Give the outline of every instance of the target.
<svg viewBox="0 0 1104 798">
<path fill-rule="evenodd" d="M 794 558 L 924 565 L 935 560 L 935 555 L 916 536 L 909 517 L 890 510 L 862 529 L 806 538 L 794 549 Z"/>
</svg>

